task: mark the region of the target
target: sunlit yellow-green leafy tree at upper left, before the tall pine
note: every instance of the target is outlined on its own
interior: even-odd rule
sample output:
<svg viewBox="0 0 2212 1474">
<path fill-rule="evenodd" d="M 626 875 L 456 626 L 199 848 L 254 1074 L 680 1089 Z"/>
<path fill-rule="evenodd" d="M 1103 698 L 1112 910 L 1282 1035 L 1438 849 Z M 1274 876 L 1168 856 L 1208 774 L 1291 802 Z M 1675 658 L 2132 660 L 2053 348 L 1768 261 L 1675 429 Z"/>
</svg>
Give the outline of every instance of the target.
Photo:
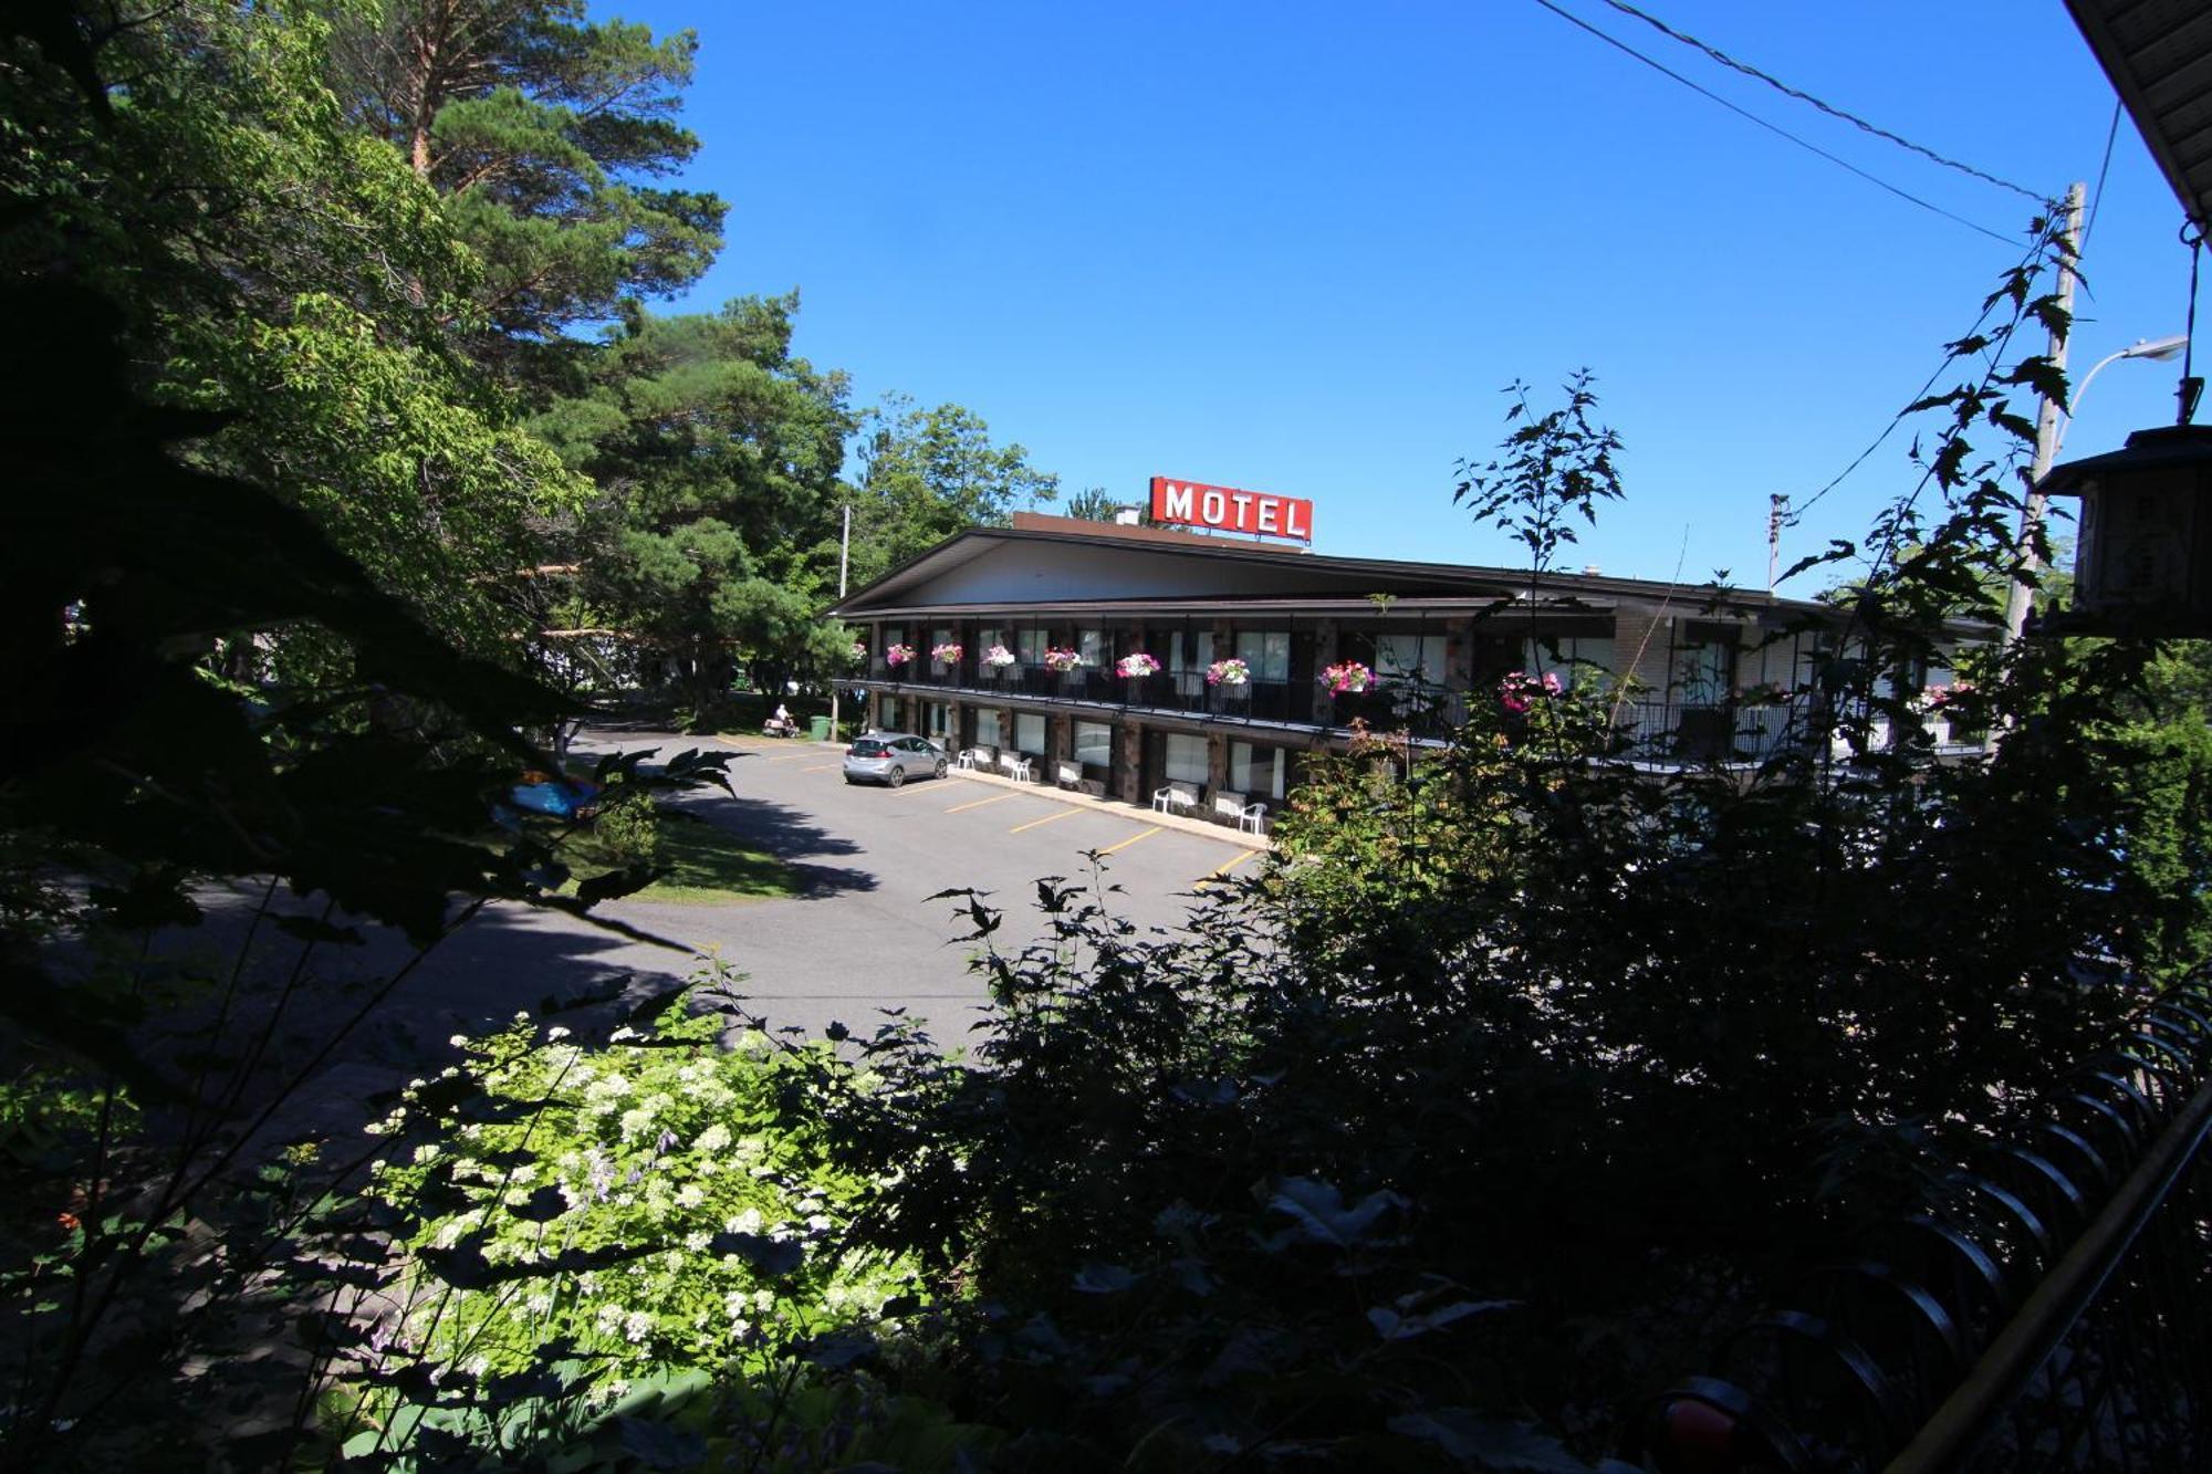
<svg viewBox="0 0 2212 1474">
<path fill-rule="evenodd" d="M 153 394 L 239 421 L 195 445 L 201 465 L 283 487 L 383 587 L 511 657 L 502 578 L 582 487 L 456 352 L 471 252 L 345 122 L 312 11 L 102 13 L 62 20 L 128 89 L 82 93 L 20 40 L 0 58 L 20 144 L 0 270 L 106 292 Z"/>
</svg>

